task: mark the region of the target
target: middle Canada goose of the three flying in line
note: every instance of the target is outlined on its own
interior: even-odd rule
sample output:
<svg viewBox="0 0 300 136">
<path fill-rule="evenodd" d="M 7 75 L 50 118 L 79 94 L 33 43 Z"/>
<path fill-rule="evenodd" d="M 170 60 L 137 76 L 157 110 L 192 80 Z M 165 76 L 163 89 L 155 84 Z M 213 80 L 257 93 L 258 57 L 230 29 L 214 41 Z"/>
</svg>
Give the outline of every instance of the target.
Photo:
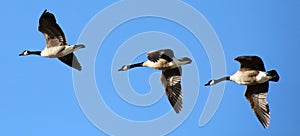
<svg viewBox="0 0 300 136">
<path fill-rule="evenodd" d="M 182 109 L 181 92 L 181 65 L 190 64 L 191 59 L 184 57 L 177 59 L 171 49 L 154 50 L 147 53 L 147 61 L 124 65 L 119 71 L 125 71 L 135 67 L 149 67 L 162 70 L 160 80 L 165 88 L 168 99 L 175 110 L 179 113 Z"/>
</svg>

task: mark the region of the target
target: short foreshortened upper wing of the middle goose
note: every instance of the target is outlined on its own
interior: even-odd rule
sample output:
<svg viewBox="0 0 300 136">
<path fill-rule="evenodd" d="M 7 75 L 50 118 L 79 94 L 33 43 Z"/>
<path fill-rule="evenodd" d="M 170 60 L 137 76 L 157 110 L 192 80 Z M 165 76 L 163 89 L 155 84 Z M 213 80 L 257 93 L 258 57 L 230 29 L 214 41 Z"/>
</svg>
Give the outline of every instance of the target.
<svg viewBox="0 0 300 136">
<path fill-rule="evenodd" d="M 157 62 L 159 59 L 165 59 L 168 62 L 173 61 L 174 53 L 171 49 L 154 50 L 147 53 L 148 60 Z"/>
</svg>

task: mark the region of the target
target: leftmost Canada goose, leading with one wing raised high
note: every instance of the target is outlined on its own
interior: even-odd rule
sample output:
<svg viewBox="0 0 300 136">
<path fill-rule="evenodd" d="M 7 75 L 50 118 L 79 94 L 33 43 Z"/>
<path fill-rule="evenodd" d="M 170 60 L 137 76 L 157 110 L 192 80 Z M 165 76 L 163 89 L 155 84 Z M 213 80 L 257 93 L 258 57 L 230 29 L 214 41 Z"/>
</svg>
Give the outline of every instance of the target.
<svg viewBox="0 0 300 136">
<path fill-rule="evenodd" d="M 46 47 L 42 51 L 29 51 L 25 50 L 19 56 L 39 55 L 47 58 L 58 58 L 63 63 L 71 66 L 77 70 L 81 70 L 81 66 L 73 54 L 74 51 L 85 48 L 83 44 L 68 45 L 66 37 L 56 23 L 56 19 L 52 13 L 43 12 L 39 19 L 38 30 L 43 33 L 46 39 Z"/>
</svg>

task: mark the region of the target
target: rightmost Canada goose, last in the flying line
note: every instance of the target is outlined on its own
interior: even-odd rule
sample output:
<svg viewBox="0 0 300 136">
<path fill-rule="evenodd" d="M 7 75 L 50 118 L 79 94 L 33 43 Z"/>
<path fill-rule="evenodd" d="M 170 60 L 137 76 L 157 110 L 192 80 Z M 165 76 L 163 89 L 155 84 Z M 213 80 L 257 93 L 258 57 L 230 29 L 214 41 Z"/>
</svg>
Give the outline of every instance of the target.
<svg viewBox="0 0 300 136">
<path fill-rule="evenodd" d="M 267 102 L 268 81 L 277 82 L 279 75 L 275 70 L 265 72 L 264 63 L 257 56 L 240 56 L 234 60 L 241 64 L 240 69 L 231 76 L 210 80 L 205 86 L 211 86 L 224 80 L 247 85 L 245 97 L 264 128 L 270 125 L 270 109 Z"/>
</svg>

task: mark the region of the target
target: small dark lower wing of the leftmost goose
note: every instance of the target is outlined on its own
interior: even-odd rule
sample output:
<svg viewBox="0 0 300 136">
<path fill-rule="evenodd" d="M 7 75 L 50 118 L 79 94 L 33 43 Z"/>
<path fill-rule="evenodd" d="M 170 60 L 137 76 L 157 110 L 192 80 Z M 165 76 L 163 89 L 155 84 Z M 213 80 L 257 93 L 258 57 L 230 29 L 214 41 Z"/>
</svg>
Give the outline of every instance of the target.
<svg viewBox="0 0 300 136">
<path fill-rule="evenodd" d="M 62 61 L 63 63 L 67 64 L 70 67 L 73 67 L 77 70 L 81 70 L 81 66 L 79 64 L 79 61 L 77 60 L 76 56 L 74 55 L 74 53 L 70 53 L 66 56 L 60 57 L 58 58 L 60 61 Z"/>
</svg>

